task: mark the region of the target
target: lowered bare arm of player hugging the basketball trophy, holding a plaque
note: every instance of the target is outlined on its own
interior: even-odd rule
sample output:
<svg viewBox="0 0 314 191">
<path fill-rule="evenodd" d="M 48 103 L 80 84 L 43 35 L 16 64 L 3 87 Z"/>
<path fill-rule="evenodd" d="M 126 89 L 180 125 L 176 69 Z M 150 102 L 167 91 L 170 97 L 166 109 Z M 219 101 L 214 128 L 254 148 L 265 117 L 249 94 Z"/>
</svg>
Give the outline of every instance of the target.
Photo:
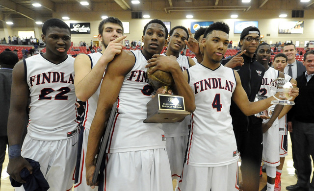
<svg viewBox="0 0 314 191">
<path fill-rule="evenodd" d="M 106 74 L 101 85 L 97 110 L 90 127 L 86 153 L 86 183 L 92 188 L 95 171 L 94 159 L 98 153 L 101 137 L 105 131 L 105 121 L 108 120 L 111 108 L 116 102 L 125 75 L 131 71 L 135 57 L 130 51 L 122 51 L 107 66 Z"/>
</svg>

